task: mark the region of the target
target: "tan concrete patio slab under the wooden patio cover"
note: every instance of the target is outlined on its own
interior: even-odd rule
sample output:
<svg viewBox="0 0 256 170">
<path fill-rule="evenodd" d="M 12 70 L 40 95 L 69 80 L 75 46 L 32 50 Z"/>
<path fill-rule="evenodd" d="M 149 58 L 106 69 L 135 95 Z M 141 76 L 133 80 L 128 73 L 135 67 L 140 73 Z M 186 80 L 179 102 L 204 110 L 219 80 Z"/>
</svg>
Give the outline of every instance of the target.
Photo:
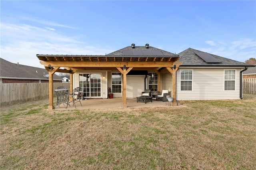
<svg viewBox="0 0 256 170">
<path fill-rule="evenodd" d="M 54 99 L 56 102 L 56 99 Z M 87 99 L 81 100 L 82 106 L 80 103 L 76 103 L 76 108 L 73 106 L 73 103 L 70 103 L 67 109 L 118 109 L 124 108 L 122 98 L 113 98 L 113 99 Z M 155 101 L 147 102 L 138 102 L 136 99 L 127 99 L 127 108 L 142 108 L 142 107 L 172 107 L 168 106 L 168 102 Z M 55 110 L 66 109 L 66 105 L 61 104 L 59 107 L 55 107 Z"/>
</svg>

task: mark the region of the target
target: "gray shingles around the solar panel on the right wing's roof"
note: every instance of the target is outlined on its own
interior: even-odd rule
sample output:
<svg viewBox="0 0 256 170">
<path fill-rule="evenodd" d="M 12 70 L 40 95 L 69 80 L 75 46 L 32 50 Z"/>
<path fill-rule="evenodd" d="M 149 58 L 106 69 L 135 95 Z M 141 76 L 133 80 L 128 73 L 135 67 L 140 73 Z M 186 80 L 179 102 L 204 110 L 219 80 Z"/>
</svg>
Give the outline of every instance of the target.
<svg viewBox="0 0 256 170">
<path fill-rule="evenodd" d="M 212 67 L 255 67 L 254 65 L 250 65 L 250 64 L 246 64 L 246 63 L 242 63 L 239 61 L 235 61 L 232 59 L 228 59 L 228 58 L 224 58 L 224 57 L 220 57 L 218 55 L 214 55 L 214 54 L 210 54 L 212 57 L 214 57 L 215 59 L 217 59 L 220 62 L 215 62 L 215 63 L 210 63 L 210 62 L 206 62 L 204 61 L 204 59 L 202 59 L 201 57 L 199 57 L 199 55 L 197 55 L 196 53 L 203 52 L 203 51 L 199 51 L 196 49 L 192 49 L 192 48 L 188 48 L 180 53 L 178 53 L 178 55 L 180 55 L 180 59 L 178 61 L 182 61 L 182 66 L 196 66 L 196 67 L 201 67 L 201 66 L 212 66 Z M 203 52 L 204 53 L 204 52 Z M 209 53 L 206 53 L 206 55 L 209 55 Z"/>
</svg>

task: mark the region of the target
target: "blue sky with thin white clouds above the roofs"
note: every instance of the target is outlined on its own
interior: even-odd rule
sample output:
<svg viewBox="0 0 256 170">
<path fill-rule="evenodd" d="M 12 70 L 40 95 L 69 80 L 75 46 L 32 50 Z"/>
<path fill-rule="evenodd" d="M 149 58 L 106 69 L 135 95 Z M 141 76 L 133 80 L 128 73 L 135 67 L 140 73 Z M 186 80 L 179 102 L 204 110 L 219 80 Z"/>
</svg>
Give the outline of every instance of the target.
<svg viewBox="0 0 256 170">
<path fill-rule="evenodd" d="M 44 68 L 36 54 L 105 55 L 135 43 L 244 62 L 256 57 L 256 1 L 5 1 L 1 58 Z"/>
</svg>

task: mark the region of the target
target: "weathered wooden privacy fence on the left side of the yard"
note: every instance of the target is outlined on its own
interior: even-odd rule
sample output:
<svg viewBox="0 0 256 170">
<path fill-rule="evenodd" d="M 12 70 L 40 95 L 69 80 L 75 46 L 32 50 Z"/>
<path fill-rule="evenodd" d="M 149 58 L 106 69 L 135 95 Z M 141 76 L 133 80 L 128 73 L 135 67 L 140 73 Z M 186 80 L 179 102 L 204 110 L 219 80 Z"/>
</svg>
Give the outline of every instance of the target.
<svg viewBox="0 0 256 170">
<path fill-rule="evenodd" d="M 70 83 L 53 83 L 53 89 Z M 24 103 L 49 97 L 49 83 L 2 83 L 0 84 L 0 106 Z M 56 96 L 56 93 L 53 93 Z"/>
</svg>

